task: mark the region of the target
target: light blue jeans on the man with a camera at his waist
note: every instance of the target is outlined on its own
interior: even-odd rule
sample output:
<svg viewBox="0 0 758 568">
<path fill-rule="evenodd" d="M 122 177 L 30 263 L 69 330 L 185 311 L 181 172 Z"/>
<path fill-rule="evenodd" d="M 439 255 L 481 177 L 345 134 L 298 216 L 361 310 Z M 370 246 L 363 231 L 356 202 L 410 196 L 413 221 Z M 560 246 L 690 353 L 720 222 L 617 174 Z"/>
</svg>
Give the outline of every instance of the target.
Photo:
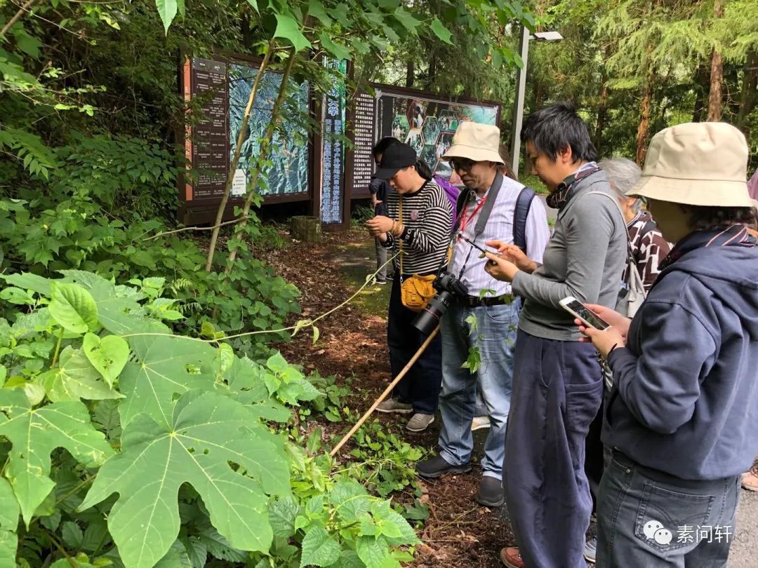
<svg viewBox="0 0 758 568">
<path fill-rule="evenodd" d="M 471 332 L 466 319 L 477 319 Z M 440 456 L 448 463 L 462 465 L 471 460 L 474 438 L 471 420 L 481 390 L 490 432 L 484 442 L 481 467 L 485 476 L 503 479 L 506 422 L 511 407 L 513 351 L 518 327 L 518 304 L 461 307 L 452 305 L 442 319 L 442 393 L 440 394 Z M 468 348 L 478 347 L 481 366 L 476 373 L 462 369 Z"/>
</svg>

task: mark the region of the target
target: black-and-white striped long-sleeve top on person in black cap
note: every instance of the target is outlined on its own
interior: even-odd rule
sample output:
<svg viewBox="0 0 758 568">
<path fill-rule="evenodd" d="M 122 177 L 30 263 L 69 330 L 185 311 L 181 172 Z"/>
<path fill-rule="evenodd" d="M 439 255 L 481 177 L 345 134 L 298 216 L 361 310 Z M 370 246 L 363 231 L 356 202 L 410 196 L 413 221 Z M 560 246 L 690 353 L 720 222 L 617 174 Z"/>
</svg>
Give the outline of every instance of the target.
<svg viewBox="0 0 758 568">
<path fill-rule="evenodd" d="M 392 191 L 387 195 L 389 217 L 398 220 L 399 201 L 402 198 L 402 273 L 436 273 L 446 261 L 450 242 L 450 218 L 453 204 L 445 191 L 433 181 L 428 181 L 415 193 L 400 195 Z M 399 240 L 387 233 L 384 248 L 399 251 Z M 399 257 L 394 261 L 400 270 Z"/>
</svg>

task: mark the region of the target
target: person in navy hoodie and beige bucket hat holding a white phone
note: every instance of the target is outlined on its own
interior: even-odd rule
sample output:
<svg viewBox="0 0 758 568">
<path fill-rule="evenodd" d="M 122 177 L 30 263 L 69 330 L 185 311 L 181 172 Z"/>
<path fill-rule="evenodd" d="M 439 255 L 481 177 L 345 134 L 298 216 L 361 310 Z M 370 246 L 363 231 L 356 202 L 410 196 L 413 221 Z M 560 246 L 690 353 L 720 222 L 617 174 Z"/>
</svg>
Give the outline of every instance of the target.
<svg viewBox="0 0 758 568">
<path fill-rule="evenodd" d="M 758 451 L 758 245 L 748 148 L 726 123 L 657 133 L 641 180 L 674 248 L 633 320 L 580 325 L 613 371 L 597 566 L 726 566 L 741 473 Z M 576 323 L 579 323 L 577 320 Z"/>
</svg>

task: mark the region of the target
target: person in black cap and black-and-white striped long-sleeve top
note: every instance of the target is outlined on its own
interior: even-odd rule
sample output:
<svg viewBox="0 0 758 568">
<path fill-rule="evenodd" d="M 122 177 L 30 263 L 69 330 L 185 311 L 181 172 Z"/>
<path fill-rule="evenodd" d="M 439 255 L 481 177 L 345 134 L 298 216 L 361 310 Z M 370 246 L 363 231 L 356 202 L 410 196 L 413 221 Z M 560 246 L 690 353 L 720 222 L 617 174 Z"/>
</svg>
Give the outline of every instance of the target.
<svg viewBox="0 0 758 568">
<path fill-rule="evenodd" d="M 368 220 L 368 233 L 378 239 L 392 254 L 395 276 L 390 291 L 387 317 L 387 345 L 390 367 L 397 376 L 427 339 L 412 326 L 418 314 L 401 301 L 400 286 L 413 275 L 436 274 L 446 264 L 450 242 L 450 219 L 453 205 L 444 190 L 421 175 L 416 153 L 411 146 L 397 143 L 384 151 L 378 179 L 387 179 L 393 191 L 387 195 L 387 216 Z M 440 335 L 436 335 L 418 357 L 409 373 L 397 384 L 392 398 L 377 410 L 413 414 L 406 424 L 411 432 L 421 432 L 434 422 L 437 398 L 442 384 Z"/>
</svg>

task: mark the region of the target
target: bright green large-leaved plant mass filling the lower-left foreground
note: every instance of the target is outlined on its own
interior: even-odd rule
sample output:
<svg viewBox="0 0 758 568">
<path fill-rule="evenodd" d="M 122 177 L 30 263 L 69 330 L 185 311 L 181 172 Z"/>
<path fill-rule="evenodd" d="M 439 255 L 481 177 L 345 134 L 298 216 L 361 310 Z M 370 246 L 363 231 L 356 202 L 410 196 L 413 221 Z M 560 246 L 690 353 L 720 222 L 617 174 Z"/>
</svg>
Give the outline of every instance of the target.
<svg viewBox="0 0 758 568">
<path fill-rule="evenodd" d="M 2 278 L 0 566 L 412 558 L 412 528 L 330 473 L 318 430 L 296 443 L 291 407 L 319 392 L 279 354 L 173 335 L 161 278 Z"/>
</svg>

